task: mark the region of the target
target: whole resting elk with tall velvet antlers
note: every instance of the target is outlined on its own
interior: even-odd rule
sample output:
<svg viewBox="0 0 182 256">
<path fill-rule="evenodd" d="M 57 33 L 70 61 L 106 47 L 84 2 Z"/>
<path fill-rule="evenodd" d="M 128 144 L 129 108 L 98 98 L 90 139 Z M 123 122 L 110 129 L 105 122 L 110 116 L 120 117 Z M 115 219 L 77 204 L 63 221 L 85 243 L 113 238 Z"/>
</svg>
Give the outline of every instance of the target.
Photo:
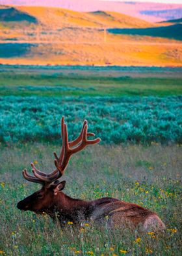
<svg viewBox="0 0 182 256">
<path fill-rule="evenodd" d="M 88 133 L 87 130 L 87 121 L 84 121 L 80 135 L 72 142 L 68 142 L 68 130 L 66 123 L 64 123 L 64 117 L 62 118 L 62 148 L 59 157 L 54 152 L 56 168 L 47 174 L 38 170 L 31 163 L 34 176 L 30 175 L 27 169 L 23 170 L 22 174 L 26 180 L 42 184 L 42 188 L 18 202 L 18 209 L 29 210 L 36 214 L 45 212 L 53 219 L 58 218 L 61 226 L 64 226 L 68 221 L 77 225 L 83 221 L 102 223 L 107 217 L 109 227 L 123 227 L 127 223 L 133 228 L 140 225 L 142 229 L 147 231 L 163 230 L 165 225 L 159 216 L 137 204 L 111 197 L 90 201 L 72 199 L 62 192 L 66 181 L 60 182 L 59 178 L 64 174 L 70 157 L 86 146 L 100 142 L 100 138 L 88 140 L 88 136 L 94 136 L 94 133 Z"/>
</svg>

